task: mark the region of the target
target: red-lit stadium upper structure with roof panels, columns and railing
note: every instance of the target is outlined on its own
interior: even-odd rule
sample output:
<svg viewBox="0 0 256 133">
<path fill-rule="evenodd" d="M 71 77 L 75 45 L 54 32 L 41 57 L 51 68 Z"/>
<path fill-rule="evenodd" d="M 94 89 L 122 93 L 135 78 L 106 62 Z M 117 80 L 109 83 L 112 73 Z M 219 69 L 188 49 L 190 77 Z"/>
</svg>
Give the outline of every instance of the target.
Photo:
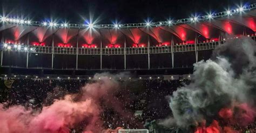
<svg viewBox="0 0 256 133">
<path fill-rule="evenodd" d="M 255 40 L 255 6 L 139 24 L 21 24 L 8 18 L 0 26 L 1 66 L 86 71 L 192 68 L 228 39 Z"/>
</svg>

